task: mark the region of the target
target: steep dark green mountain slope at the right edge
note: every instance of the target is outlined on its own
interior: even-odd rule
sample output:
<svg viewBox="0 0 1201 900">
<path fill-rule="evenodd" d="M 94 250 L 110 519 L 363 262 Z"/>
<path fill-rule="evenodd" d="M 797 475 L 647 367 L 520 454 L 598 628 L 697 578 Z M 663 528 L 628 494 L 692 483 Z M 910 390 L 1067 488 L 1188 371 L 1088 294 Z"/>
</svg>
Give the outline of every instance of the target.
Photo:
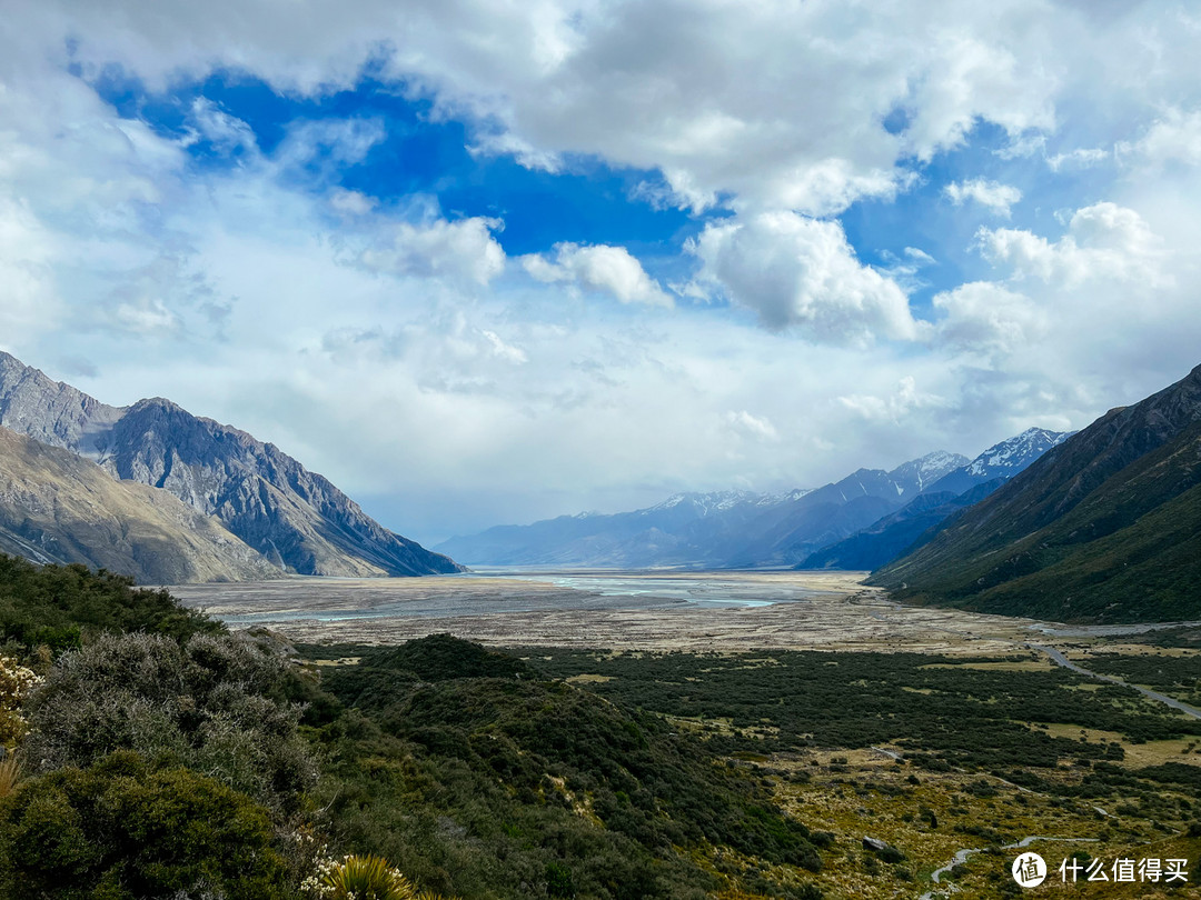
<svg viewBox="0 0 1201 900">
<path fill-rule="evenodd" d="M 1110 410 L 872 582 L 1068 622 L 1201 618 L 1201 366 Z"/>
</svg>

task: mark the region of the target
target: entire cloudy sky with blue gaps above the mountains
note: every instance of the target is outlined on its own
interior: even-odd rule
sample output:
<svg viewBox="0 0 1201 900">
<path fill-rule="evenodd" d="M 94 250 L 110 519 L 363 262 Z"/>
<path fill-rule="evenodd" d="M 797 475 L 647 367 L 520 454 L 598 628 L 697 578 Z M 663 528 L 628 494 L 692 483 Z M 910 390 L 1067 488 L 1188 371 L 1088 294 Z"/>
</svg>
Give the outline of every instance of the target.
<svg viewBox="0 0 1201 900">
<path fill-rule="evenodd" d="M 1201 362 L 1201 11 L 5 0 L 0 349 L 423 542 L 1081 428 Z"/>
</svg>

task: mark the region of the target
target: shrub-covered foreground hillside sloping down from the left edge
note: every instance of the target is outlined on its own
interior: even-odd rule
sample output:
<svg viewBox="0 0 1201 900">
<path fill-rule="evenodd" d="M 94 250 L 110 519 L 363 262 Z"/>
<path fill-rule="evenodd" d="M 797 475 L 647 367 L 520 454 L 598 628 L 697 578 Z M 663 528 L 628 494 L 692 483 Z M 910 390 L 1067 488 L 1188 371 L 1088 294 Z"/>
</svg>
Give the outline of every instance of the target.
<svg viewBox="0 0 1201 900">
<path fill-rule="evenodd" d="M 0 630 L 0 898 L 820 895 L 821 835 L 721 739 L 476 644 L 304 665 L 10 558 Z"/>
</svg>

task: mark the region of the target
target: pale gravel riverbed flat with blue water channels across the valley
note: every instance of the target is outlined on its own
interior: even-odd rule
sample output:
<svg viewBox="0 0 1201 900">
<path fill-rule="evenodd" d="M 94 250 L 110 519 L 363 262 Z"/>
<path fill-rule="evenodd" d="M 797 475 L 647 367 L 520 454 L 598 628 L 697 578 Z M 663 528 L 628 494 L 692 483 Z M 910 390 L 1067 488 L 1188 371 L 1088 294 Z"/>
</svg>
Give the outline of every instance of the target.
<svg viewBox="0 0 1201 900">
<path fill-rule="evenodd" d="M 395 643 L 450 632 L 492 646 L 998 653 L 1030 619 L 904 607 L 865 572 L 522 571 L 187 584 L 175 596 L 294 641 Z"/>
</svg>

